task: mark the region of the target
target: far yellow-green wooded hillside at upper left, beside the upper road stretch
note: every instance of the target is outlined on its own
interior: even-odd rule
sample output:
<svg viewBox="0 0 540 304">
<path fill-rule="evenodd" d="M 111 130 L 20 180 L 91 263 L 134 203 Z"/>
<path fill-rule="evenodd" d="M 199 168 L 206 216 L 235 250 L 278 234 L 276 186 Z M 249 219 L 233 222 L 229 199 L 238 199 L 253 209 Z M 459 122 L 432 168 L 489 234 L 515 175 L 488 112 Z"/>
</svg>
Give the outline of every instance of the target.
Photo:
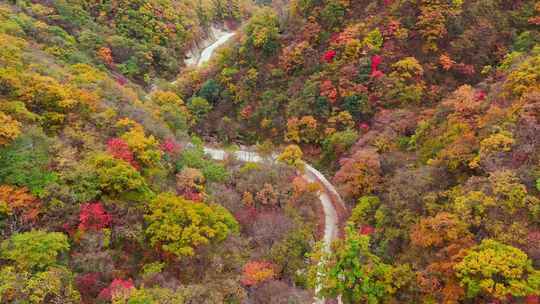
<svg viewBox="0 0 540 304">
<path fill-rule="evenodd" d="M 68 63 L 102 64 L 139 84 L 173 78 L 212 25 L 235 27 L 254 9 L 247 0 L 15 3 L 10 21 L 47 44 L 47 53 Z"/>
</svg>

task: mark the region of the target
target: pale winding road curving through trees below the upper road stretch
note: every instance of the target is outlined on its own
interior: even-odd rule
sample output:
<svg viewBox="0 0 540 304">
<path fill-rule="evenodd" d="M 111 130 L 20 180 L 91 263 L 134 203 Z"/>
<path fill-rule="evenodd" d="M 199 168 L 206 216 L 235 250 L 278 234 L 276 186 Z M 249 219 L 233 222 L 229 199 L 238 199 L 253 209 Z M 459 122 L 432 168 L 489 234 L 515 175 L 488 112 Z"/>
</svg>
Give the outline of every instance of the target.
<svg viewBox="0 0 540 304">
<path fill-rule="evenodd" d="M 224 160 L 229 155 L 234 156 L 236 159 L 244 162 L 255 162 L 255 163 L 262 163 L 262 162 L 274 162 L 276 159 L 276 156 L 270 156 L 270 157 L 262 157 L 256 152 L 252 151 L 234 151 L 234 152 L 227 152 L 222 149 L 214 149 L 205 147 L 204 153 L 210 156 L 210 158 L 214 160 Z M 303 178 L 306 179 L 309 182 L 315 182 L 322 186 L 322 191 L 319 193 L 319 200 L 321 202 L 321 205 L 323 207 L 324 212 L 324 237 L 323 237 L 323 243 L 324 243 L 324 250 L 326 252 L 330 251 L 330 245 L 332 242 L 338 237 L 338 215 L 336 208 L 334 207 L 334 204 L 332 204 L 332 200 L 330 199 L 331 194 L 333 197 L 337 198 L 339 200 L 339 203 L 342 204 L 343 201 L 341 200 L 341 197 L 339 196 L 338 192 L 334 188 L 334 186 L 324 177 L 324 175 L 319 172 L 317 169 L 313 168 L 309 164 L 305 164 L 304 172 L 303 172 Z M 316 288 L 316 292 L 319 290 L 319 286 Z M 324 299 L 316 299 L 316 304 L 322 304 L 325 303 Z"/>
</svg>

